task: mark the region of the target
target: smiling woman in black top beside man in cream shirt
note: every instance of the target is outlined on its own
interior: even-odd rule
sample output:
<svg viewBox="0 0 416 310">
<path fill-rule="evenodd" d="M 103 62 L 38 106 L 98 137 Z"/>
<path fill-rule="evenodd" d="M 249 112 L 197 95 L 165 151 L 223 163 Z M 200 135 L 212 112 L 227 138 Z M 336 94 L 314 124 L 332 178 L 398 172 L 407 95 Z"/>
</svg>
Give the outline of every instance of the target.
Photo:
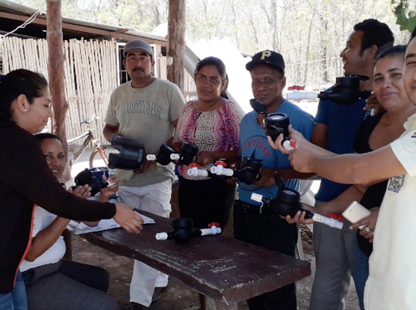
<svg viewBox="0 0 416 310">
<path fill-rule="evenodd" d="M 356 153 L 366 153 L 381 148 L 400 137 L 403 124 L 416 112 L 404 91 L 403 67 L 405 45 L 393 46 L 381 52 L 374 61 L 374 94 L 385 111 L 365 119 L 357 130 L 354 141 Z M 378 210 L 384 197 L 387 180 L 366 188 L 360 203 L 371 211 L 368 227 L 374 230 Z M 363 235 L 367 235 L 364 237 Z M 368 259 L 373 246 L 372 231 L 357 231 L 358 246 L 355 251 L 352 277 L 357 290 L 360 308 L 364 309 L 364 286 L 368 278 Z"/>
</svg>

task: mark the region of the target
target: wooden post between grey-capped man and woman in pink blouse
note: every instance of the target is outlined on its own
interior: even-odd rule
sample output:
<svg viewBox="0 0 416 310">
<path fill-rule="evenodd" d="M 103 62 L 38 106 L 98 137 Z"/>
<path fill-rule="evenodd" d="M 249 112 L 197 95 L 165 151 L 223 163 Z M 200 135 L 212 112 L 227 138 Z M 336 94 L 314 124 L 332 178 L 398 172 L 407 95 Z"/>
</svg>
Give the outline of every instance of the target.
<svg viewBox="0 0 416 310">
<path fill-rule="evenodd" d="M 184 89 L 185 0 L 169 0 L 167 79 Z M 169 58 L 171 57 L 171 58 Z M 169 62 L 171 59 L 171 62 Z M 169 63 L 171 63 L 169 65 Z"/>
</svg>

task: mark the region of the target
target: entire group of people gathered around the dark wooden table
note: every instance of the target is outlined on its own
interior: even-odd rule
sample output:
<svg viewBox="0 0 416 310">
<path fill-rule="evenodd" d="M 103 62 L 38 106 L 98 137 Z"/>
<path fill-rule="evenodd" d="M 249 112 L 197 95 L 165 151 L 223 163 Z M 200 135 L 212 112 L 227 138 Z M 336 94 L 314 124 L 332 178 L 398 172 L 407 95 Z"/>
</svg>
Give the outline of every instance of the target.
<svg viewBox="0 0 416 310">
<path fill-rule="evenodd" d="M 341 213 L 351 201 L 360 200 L 372 213 L 353 224 L 354 229 L 348 222 L 339 231 L 314 223 L 316 274 L 310 308 L 343 309 L 351 273 L 362 309 L 412 308 L 416 306 L 414 274 L 411 254 L 406 252 L 412 250 L 412 241 L 405 229 L 411 225 L 409 183 L 416 171 L 409 156 L 414 145 L 411 130 L 416 129 L 411 116 L 416 111 L 412 104 L 416 103 L 411 71 L 416 63 L 412 61 L 416 57 L 413 35 L 406 50 L 405 46 L 392 47 L 393 35 L 386 24 L 374 19 L 356 24 L 340 56 L 345 75 L 369 76 L 361 81 L 360 89 L 372 89 L 374 94 L 367 105 L 362 99 L 350 105 L 321 100 L 315 118 L 284 99 L 283 56 L 272 50 L 256 53 L 246 65 L 253 96 L 263 102 L 268 114 L 289 116 L 291 138 L 297 143 L 291 151 L 281 146 L 282 137 L 274 142 L 266 136 L 264 114 L 244 114 L 228 99 L 228 75 L 221 59 L 199 61 L 194 71 L 197 99 L 185 103 L 175 84 L 153 76 L 151 46 L 132 40 L 124 46 L 123 60 L 130 81 L 111 95 L 104 136 L 109 141 L 114 134 L 139 140 L 149 153 L 156 153 L 166 142 L 177 150 L 182 143 L 191 143 L 199 149 L 196 163 L 201 168 L 220 158 L 236 168 L 243 157 L 261 162 L 261 178 L 253 184 L 237 180 L 237 193 L 235 179 L 220 182 L 188 175 L 188 167 L 179 165 L 179 211 L 195 226 L 219 222 L 224 227 L 233 208 L 236 239 L 291 256 L 298 238 L 293 223 L 312 220 L 305 219 L 302 212 L 282 218 L 273 204 L 258 203 L 251 195 L 275 198 L 279 191 L 276 173 L 286 188 L 295 190 L 300 179 L 319 174 L 322 180 L 316 204 L 305 208 L 321 214 Z M 368 107 L 379 112 L 370 117 Z M 0 262 L 0 309 L 28 305 L 37 309 L 45 304 L 113 309 L 116 302 L 106 293 L 108 273 L 63 259 L 65 244 L 60 235 L 69 218 L 96 221 L 114 217 L 127 231 L 139 232 L 142 219 L 131 207 L 169 217 L 174 164 L 146 161 L 139 170 L 116 169 L 117 176 L 111 176 L 116 184 L 103 189 L 98 202 L 89 201 L 85 199 L 88 186 L 67 190 L 58 181 L 66 161 L 62 141 L 52 134 L 34 135 L 51 116 L 47 82 L 41 74 L 19 69 L 0 81 L 0 139 L 3 145 L 13 145 L 0 152 L 2 162 L 8 162 L 0 166 L 0 191 L 4 193 L 0 223 L 5 228 L 0 242 L 4 257 Z M 395 140 L 403 132 L 409 133 Z M 336 155 L 354 151 L 362 154 Z M 28 173 L 39 176 L 39 181 L 33 182 Z M 115 191 L 122 203 L 107 202 Z M 356 236 L 360 224 L 369 229 Z M 373 237 L 374 249 L 367 241 Z M 148 308 L 167 282 L 166 274 L 135 260 L 131 309 Z M 52 288 L 54 293 L 50 293 Z M 45 291 L 50 294 L 46 296 Z M 248 304 L 252 310 L 295 310 L 295 283 L 253 297 Z"/>
</svg>

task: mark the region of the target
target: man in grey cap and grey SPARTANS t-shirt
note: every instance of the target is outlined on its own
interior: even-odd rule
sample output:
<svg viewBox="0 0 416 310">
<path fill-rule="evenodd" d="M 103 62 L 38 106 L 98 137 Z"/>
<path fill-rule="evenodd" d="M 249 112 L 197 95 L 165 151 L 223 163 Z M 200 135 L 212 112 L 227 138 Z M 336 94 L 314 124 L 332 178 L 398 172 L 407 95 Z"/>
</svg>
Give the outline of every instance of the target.
<svg viewBox="0 0 416 310">
<path fill-rule="evenodd" d="M 139 39 L 124 46 L 123 65 L 131 80 L 112 93 L 105 118 L 104 136 L 114 134 L 140 141 L 146 152 L 157 153 L 172 138 L 183 95 L 175 84 L 153 76 L 151 46 Z M 140 210 L 169 217 L 174 164 L 157 165 L 147 161 L 140 170 L 118 170 L 120 200 Z M 134 260 L 130 284 L 131 309 L 147 309 L 152 295 L 167 285 L 167 275 Z M 158 289 L 155 291 L 155 287 Z"/>
</svg>

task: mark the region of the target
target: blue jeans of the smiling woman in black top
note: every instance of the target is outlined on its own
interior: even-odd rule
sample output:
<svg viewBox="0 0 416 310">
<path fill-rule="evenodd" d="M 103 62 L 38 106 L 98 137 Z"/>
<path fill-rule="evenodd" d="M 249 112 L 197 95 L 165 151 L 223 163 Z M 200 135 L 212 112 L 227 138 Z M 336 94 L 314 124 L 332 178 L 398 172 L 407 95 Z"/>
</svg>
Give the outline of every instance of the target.
<svg viewBox="0 0 416 310">
<path fill-rule="evenodd" d="M 355 290 L 357 291 L 358 303 L 361 310 L 364 310 L 364 287 L 369 274 L 368 259 L 369 257 L 364 254 L 357 244 L 352 278 L 354 279 Z"/>
</svg>

